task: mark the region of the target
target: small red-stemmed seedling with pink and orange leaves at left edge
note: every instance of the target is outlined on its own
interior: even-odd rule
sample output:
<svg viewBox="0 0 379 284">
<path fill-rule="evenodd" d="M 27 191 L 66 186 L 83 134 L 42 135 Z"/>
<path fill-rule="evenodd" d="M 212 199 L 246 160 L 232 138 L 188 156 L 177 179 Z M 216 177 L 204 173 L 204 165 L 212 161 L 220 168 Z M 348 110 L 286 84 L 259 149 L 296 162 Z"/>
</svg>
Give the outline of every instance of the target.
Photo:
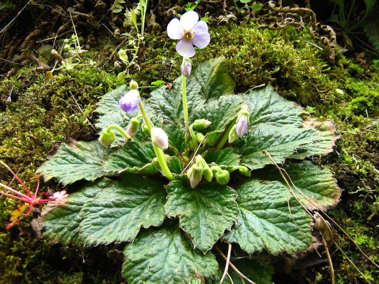
<svg viewBox="0 0 379 284">
<path fill-rule="evenodd" d="M 12 195 L 12 194 L 9 194 L 9 193 L 6 193 L 6 192 L 3 192 L 3 191 L 0 191 L 0 194 L 3 194 L 5 196 L 8 196 L 8 197 L 13 197 L 13 198 L 16 198 L 18 200 L 21 200 L 21 201 L 24 201 L 26 203 L 29 203 L 30 206 L 29 206 L 29 210 L 26 212 L 26 213 L 23 213 L 25 212 L 26 208 L 27 208 L 27 204 L 24 204 L 22 206 L 19 206 L 19 209 L 16 209 L 15 211 L 13 211 L 11 213 L 11 218 L 10 218 L 10 221 L 12 223 L 9 223 L 6 228 L 9 229 L 11 228 L 12 226 L 16 225 L 17 223 L 20 222 L 19 218 L 21 216 L 27 216 L 31 213 L 31 211 L 33 210 L 33 207 L 36 206 L 37 204 L 39 203 L 44 203 L 44 202 L 47 202 L 47 201 L 52 201 L 52 200 L 55 200 L 55 201 L 62 201 L 64 198 L 66 198 L 68 196 L 68 194 L 66 193 L 65 190 L 61 191 L 61 192 L 54 192 L 53 193 L 53 196 L 50 196 L 49 199 L 43 199 L 43 197 L 37 197 L 37 194 L 38 194 L 38 189 L 39 189 L 39 177 L 43 175 L 43 173 L 41 175 L 38 175 L 38 176 L 35 176 L 34 178 L 31 178 L 31 179 L 37 179 L 37 188 L 36 188 L 36 191 L 34 192 L 34 194 L 32 194 L 28 188 L 25 186 L 25 184 L 21 181 L 21 179 L 13 172 L 13 170 L 11 170 L 8 165 L 6 165 L 4 162 L 0 161 L 1 164 L 3 164 L 8 170 L 9 172 L 12 173 L 12 175 L 17 179 L 17 181 L 22 185 L 22 187 L 25 189 L 25 191 L 27 192 L 27 194 L 29 195 L 25 195 L 9 186 L 6 186 L 5 184 L 2 184 L 0 183 L 0 187 L 3 187 L 4 189 L 6 190 L 9 190 L 10 192 L 13 192 L 15 194 L 17 194 L 18 196 L 16 195 Z"/>
</svg>

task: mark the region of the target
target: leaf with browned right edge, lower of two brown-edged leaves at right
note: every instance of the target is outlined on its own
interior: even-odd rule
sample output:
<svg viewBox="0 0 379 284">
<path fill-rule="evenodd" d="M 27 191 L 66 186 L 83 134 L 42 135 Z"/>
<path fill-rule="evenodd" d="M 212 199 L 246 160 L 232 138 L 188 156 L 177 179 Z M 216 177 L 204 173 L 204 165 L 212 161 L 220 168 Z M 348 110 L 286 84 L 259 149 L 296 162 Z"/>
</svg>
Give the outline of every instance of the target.
<svg viewBox="0 0 379 284">
<path fill-rule="evenodd" d="M 332 177 L 332 173 L 329 170 L 320 169 L 318 165 L 310 161 L 291 159 L 286 160 L 280 167 L 287 171 L 294 185 L 322 210 L 327 210 L 337 205 L 338 201 L 340 201 L 341 190 L 337 186 L 337 180 Z M 280 181 L 285 185 L 274 165 L 267 165 L 263 169 L 254 170 L 251 175 L 262 180 Z M 316 209 L 295 188 L 292 188 L 292 190 L 305 206 L 311 210 Z"/>
</svg>

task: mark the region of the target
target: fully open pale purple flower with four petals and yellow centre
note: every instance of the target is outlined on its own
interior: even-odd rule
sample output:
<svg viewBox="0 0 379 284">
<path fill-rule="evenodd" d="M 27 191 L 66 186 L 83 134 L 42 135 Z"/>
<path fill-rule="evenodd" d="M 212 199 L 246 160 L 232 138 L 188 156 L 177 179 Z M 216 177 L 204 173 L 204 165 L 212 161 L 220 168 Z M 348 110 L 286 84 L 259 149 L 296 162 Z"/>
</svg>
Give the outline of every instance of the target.
<svg viewBox="0 0 379 284">
<path fill-rule="evenodd" d="M 211 39 L 207 22 L 199 21 L 199 15 L 193 10 L 185 12 L 180 20 L 172 19 L 167 25 L 167 34 L 171 39 L 180 39 L 176 45 L 176 51 L 184 57 L 195 55 L 192 44 L 202 49 L 209 44 Z"/>
</svg>

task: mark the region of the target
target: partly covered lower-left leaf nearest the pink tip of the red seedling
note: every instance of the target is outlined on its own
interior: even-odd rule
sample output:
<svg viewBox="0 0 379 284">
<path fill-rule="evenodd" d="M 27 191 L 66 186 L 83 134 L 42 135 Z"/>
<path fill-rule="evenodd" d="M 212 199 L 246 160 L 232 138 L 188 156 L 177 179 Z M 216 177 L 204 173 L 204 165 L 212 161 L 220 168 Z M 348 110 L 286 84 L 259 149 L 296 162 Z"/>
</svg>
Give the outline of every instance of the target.
<svg viewBox="0 0 379 284">
<path fill-rule="evenodd" d="M 44 237 L 50 242 L 78 243 L 82 240 L 79 236 L 79 224 L 82 220 L 80 210 L 83 205 L 94 198 L 100 190 L 108 187 L 114 181 L 101 178 L 96 182 L 89 182 L 79 191 L 70 193 L 62 202 L 50 201 L 42 211 L 40 223 L 46 228 Z M 41 222 L 42 220 L 42 222 Z"/>
</svg>

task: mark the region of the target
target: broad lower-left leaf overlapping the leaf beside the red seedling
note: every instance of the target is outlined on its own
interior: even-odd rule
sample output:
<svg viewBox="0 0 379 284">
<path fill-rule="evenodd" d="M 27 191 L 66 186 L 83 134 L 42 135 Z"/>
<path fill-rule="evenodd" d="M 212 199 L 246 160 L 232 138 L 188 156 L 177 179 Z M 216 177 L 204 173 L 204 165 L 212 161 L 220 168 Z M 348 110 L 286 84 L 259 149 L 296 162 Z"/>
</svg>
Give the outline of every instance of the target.
<svg viewBox="0 0 379 284">
<path fill-rule="evenodd" d="M 125 174 L 83 206 L 80 236 L 91 244 L 134 240 L 141 226 L 162 224 L 166 195 L 163 183 Z"/>
</svg>

